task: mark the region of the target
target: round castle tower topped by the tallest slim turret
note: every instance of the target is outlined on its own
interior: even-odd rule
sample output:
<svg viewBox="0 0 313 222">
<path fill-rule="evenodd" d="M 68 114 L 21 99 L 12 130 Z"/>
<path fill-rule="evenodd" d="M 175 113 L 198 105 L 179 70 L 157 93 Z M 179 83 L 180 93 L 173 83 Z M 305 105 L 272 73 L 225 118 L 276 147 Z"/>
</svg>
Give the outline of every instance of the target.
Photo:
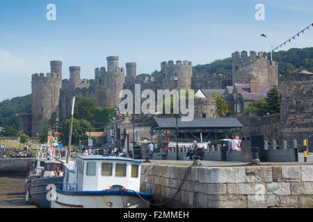
<svg viewBox="0 0 313 222">
<path fill-rule="evenodd" d="M 119 94 L 125 82 L 125 72 L 118 67 L 118 56 L 109 56 L 108 71 L 104 67 L 95 69 L 95 99 L 103 108 L 120 105 Z"/>
</svg>

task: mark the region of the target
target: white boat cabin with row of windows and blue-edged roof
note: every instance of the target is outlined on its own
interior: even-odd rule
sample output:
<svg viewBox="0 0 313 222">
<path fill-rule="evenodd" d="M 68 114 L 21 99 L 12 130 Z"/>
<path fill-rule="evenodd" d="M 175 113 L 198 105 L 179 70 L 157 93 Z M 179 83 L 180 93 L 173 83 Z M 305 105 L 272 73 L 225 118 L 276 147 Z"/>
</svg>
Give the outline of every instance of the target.
<svg viewBox="0 0 313 222">
<path fill-rule="evenodd" d="M 131 158 L 79 155 L 64 169 L 63 189 L 101 191 L 122 186 L 140 190 L 141 162 Z"/>
</svg>

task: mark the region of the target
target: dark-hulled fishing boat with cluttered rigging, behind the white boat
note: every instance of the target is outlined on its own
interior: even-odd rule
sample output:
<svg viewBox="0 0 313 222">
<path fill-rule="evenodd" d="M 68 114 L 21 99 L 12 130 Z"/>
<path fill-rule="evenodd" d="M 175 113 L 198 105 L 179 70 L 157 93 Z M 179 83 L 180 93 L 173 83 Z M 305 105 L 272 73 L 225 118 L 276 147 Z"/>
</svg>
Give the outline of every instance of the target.
<svg viewBox="0 0 313 222">
<path fill-rule="evenodd" d="M 56 137 L 53 137 L 52 130 L 48 131 L 47 144 L 42 144 L 38 148 L 33 169 L 29 172 L 25 180 L 26 202 L 32 200 L 38 207 L 50 207 L 47 200 L 48 185 L 63 181 L 63 175 L 56 176 L 54 172 L 59 167 L 63 171 L 61 153 L 58 149 Z"/>
</svg>

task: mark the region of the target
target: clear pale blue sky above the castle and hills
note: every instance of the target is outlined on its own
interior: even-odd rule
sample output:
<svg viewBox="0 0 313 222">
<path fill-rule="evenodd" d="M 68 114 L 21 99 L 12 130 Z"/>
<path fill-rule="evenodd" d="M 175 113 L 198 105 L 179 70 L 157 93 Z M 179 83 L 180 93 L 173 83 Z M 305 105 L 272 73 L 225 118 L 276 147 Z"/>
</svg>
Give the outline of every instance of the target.
<svg viewBox="0 0 313 222">
<path fill-rule="evenodd" d="M 56 20 L 47 19 L 49 3 Z M 255 19 L 258 3 L 264 20 Z M 150 74 L 168 60 L 198 65 L 268 52 L 312 23 L 312 0 L 0 0 L 0 101 L 30 94 L 31 74 L 50 72 L 51 60 L 63 61 L 63 78 L 70 66 L 95 78 L 107 56 Z M 311 46 L 313 27 L 281 50 Z"/>
</svg>

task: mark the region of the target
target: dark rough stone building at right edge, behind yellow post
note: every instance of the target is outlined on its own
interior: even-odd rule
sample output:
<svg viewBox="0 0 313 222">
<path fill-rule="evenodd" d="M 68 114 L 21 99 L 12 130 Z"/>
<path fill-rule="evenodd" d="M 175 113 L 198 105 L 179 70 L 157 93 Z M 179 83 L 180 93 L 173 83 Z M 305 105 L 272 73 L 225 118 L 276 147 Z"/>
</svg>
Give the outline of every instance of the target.
<svg viewBox="0 0 313 222">
<path fill-rule="evenodd" d="M 303 139 L 308 139 L 313 151 L 313 74 L 298 70 L 279 78 L 280 89 L 280 128 L 282 139 L 292 148 L 293 140 L 298 147 Z"/>
</svg>

